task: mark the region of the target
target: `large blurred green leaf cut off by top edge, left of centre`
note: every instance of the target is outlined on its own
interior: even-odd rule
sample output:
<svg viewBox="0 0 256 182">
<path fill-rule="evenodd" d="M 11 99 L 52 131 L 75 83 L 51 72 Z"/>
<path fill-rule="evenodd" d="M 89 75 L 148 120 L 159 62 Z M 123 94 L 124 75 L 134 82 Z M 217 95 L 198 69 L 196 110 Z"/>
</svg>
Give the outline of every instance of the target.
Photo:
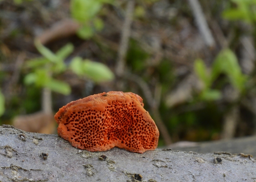
<svg viewBox="0 0 256 182">
<path fill-rule="evenodd" d="M 91 20 L 102 7 L 97 0 L 71 0 L 71 16 L 81 23 Z"/>
</svg>

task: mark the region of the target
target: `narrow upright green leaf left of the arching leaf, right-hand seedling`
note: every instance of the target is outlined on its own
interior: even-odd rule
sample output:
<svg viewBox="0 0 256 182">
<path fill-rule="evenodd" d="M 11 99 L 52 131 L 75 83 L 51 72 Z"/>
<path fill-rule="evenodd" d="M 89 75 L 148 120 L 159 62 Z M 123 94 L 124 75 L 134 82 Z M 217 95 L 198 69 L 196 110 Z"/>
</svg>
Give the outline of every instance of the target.
<svg viewBox="0 0 256 182">
<path fill-rule="evenodd" d="M 197 76 L 204 82 L 204 85 L 206 87 L 209 87 L 211 85 L 211 78 L 209 74 L 207 74 L 207 68 L 203 60 L 195 60 L 194 71 L 196 72 Z"/>
</svg>

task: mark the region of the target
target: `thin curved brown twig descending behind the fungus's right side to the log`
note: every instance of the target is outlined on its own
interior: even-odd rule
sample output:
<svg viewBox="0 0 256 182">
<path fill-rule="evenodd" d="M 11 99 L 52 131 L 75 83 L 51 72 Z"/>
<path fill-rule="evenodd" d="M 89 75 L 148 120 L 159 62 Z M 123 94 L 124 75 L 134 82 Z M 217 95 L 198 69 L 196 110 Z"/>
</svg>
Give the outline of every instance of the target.
<svg viewBox="0 0 256 182">
<path fill-rule="evenodd" d="M 140 88 L 144 94 L 144 97 L 146 98 L 147 103 L 150 106 L 150 109 L 151 109 L 153 117 L 154 117 L 154 121 L 156 122 L 156 125 L 159 128 L 160 134 L 164 139 L 164 143 L 166 145 L 170 145 L 172 143 L 171 136 L 169 135 L 168 130 L 166 129 L 166 126 L 161 119 L 161 115 L 159 113 L 159 108 L 156 105 L 157 102 L 152 97 L 152 93 L 150 92 L 150 88 L 147 85 L 147 83 L 139 76 L 137 76 L 135 74 L 130 74 L 128 72 L 125 72 L 125 74 L 123 75 L 123 78 L 133 81 L 133 82 L 137 83 L 138 86 L 140 86 Z M 159 93 L 159 95 L 160 95 L 160 93 Z M 158 95 L 158 97 L 159 97 L 159 95 Z"/>
</svg>

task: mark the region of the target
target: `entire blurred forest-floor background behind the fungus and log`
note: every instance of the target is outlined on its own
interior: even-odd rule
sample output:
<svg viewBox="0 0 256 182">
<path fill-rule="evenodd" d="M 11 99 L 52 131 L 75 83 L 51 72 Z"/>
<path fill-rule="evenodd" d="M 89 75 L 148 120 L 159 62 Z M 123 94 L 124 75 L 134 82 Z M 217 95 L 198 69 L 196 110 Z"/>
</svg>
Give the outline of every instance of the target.
<svg viewBox="0 0 256 182">
<path fill-rule="evenodd" d="M 0 0 L 0 124 L 55 133 L 59 108 L 114 90 L 159 146 L 255 135 L 255 29 L 256 0 Z"/>
</svg>

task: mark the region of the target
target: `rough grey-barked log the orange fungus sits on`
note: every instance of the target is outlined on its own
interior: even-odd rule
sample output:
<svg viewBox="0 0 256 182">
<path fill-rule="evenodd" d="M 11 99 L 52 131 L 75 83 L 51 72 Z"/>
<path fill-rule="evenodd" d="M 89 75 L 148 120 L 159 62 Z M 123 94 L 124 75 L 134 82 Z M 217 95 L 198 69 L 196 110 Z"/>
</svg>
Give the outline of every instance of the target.
<svg viewBox="0 0 256 182">
<path fill-rule="evenodd" d="M 87 152 L 57 135 L 0 127 L 0 181 L 254 182 L 256 161 L 225 152 L 198 154 L 156 149 L 144 154 L 119 148 Z"/>
</svg>

